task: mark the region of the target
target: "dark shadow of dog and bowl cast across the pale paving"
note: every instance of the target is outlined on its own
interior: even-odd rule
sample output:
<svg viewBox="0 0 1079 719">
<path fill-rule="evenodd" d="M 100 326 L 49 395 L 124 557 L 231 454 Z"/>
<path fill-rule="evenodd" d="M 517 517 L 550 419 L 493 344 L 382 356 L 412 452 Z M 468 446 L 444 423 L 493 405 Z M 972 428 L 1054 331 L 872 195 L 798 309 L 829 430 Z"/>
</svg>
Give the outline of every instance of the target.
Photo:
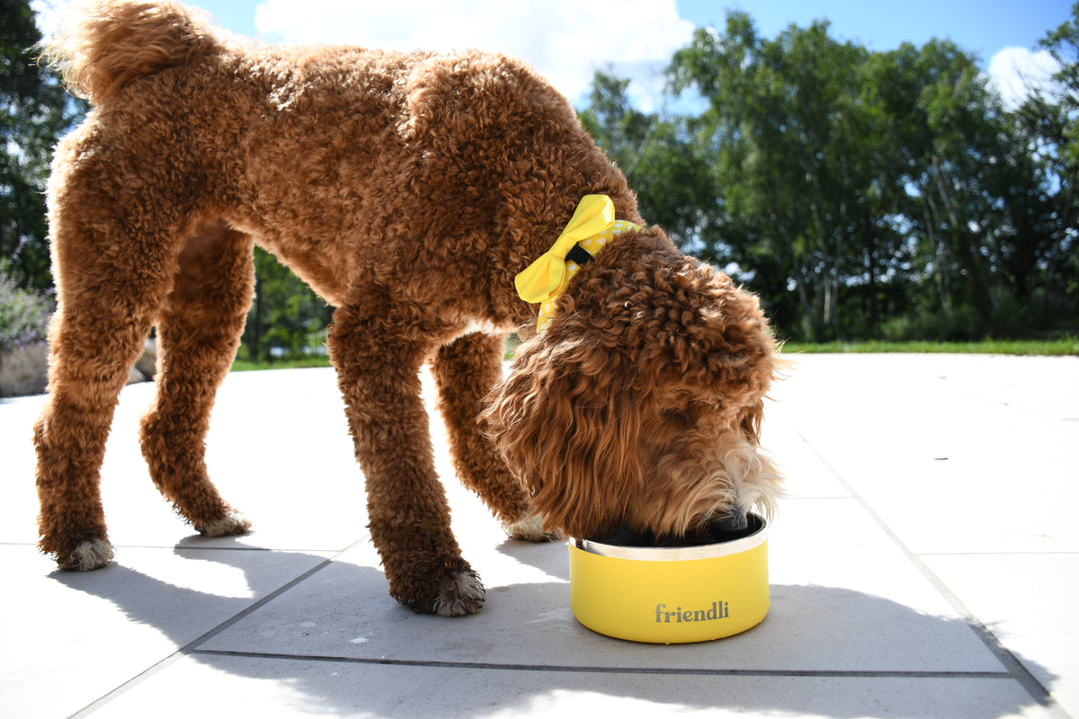
<svg viewBox="0 0 1079 719">
<path fill-rule="evenodd" d="M 90 575 L 52 576 L 112 603 L 129 621 L 159 630 L 181 647 L 181 654 L 216 672 L 284 682 L 289 703 L 312 711 L 401 719 L 475 717 L 533 710 L 547 706 L 551 696 L 569 693 L 600 695 L 600 702 L 634 699 L 660 714 L 723 707 L 837 718 L 1001 717 L 1039 703 L 1009 679 L 1003 666 L 981 674 L 943 667 L 889 669 L 891 660 L 879 656 L 889 647 L 905 642 L 902 656 L 910 658 L 911 637 L 958 636 L 970 627 L 961 619 L 925 614 L 848 589 L 773 585 L 769 616 L 753 630 L 712 642 L 641 645 L 595 634 L 572 621 L 566 584 L 557 581 L 568 576 L 564 547 L 500 545 L 500 553 L 556 581 L 495 587 L 483 611 L 460 620 L 414 614 L 396 606 L 385 577 L 373 567 L 299 552 L 258 551 L 238 541 L 234 550 L 211 549 L 217 551 L 188 543 L 176 548 L 174 556 L 210 563 L 213 570 L 240 570 L 250 593 L 262 598 L 176 586 L 122 565 Z M 258 565 L 283 556 L 295 562 L 296 579 L 271 587 L 267 577 L 279 578 L 281 572 L 259 571 Z M 217 623 L 207 632 L 211 622 Z M 377 646 L 380 630 L 381 638 L 390 640 L 384 646 L 396 651 L 365 653 L 365 645 L 355 644 L 367 642 L 367 637 L 356 636 L 366 634 L 375 642 L 370 646 Z M 327 650 L 316 636 L 309 636 L 318 633 L 344 637 L 355 651 Z M 245 637 L 257 639 L 245 645 Z M 515 639 L 517 650 L 509 653 L 503 645 Z M 534 650 L 529 648 L 533 644 Z M 462 648 L 474 652 L 473 658 L 461 659 L 467 655 Z M 515 664 L 507 656 L 528 661 Z M 857 660 L 845 667 L 850 656 L 873 658 L 868 664 L 882 668 L 865 670 Z M 167 669 L 152 673 L 131 686 L 167 676 Z M 980 683 L 974 695 L 970 683 L 979 678 L 1007 682 L 1011 690 L 984 691 L 989 683 Z M 966 685 L 957 683 L 954 691 L 921 691 L 927 685 L 918 682 L 929 679 Z M 953 702 L 951 710 L 942 701 Z"/>
</svg>

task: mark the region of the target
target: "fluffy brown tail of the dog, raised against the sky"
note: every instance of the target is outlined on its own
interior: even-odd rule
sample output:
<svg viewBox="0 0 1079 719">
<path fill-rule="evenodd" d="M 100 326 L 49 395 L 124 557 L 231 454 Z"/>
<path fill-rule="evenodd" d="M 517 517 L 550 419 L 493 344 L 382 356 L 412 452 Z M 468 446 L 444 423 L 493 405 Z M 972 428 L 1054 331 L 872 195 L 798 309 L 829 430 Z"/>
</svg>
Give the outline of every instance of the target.
<svg viewBox="0 0 1079 719">
<path fill-rule="evenodd" d="M 207 19 L 173 0 L 87 0 L 42 44 L 71 94 L 101 105 L 133 80 L 224 50 Z"/>
</svg>

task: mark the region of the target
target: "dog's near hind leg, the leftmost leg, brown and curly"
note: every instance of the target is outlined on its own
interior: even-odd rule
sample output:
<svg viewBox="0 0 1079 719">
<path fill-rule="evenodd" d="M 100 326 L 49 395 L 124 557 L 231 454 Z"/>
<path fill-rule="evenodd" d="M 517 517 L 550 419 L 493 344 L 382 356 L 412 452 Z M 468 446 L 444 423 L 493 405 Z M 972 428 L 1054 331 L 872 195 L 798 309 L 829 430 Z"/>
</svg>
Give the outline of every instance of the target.
<svg viewBox="0 0 1079 719">
<path fill-rule="evenodd" d="M 172 248 L 140 243 L 149 224 L 110 213 L 98 184 L 64 188 L 50 232 L 57 310 L 49 401 L 35 425 L 39 547 L 63 569 L 112 558 L 100 496 L 105 443 L 120 390 L 168 290 Z M 51 203 L 53 198 L 51 198 Z M 119 215 L 119 212 L 118 212 Z"/>
</svg>

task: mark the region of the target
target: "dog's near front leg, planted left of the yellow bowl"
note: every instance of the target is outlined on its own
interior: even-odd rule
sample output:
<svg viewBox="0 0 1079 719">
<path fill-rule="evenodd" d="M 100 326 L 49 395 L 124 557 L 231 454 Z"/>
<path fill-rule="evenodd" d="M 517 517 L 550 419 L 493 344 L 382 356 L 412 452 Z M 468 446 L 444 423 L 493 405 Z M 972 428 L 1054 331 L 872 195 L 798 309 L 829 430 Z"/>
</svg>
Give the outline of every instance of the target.
<svg viewBox="0 0 1079 719">
<path fill-rule="evenodd" d="M 461 556 L 435 473 L 419 377 L 428 347 L 397 327 L 384 310 L 342 306 L 327 342 L 367 481 L 371 539 L 398 602 L 419 612 L 470 614 L 484 590 Z"/>
</svg>

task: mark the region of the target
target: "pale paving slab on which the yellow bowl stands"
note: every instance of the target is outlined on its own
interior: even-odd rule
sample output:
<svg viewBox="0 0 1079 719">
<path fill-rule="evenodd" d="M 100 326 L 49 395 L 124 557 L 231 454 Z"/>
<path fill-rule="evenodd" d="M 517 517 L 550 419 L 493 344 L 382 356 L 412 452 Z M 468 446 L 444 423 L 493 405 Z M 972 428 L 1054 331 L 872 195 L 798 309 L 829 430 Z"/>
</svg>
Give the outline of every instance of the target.
<svg viewBox="0 0 1079 719">
<path fill-rule="evenodd" d="M 830 534 L 830 526 L 842 529 Z M 469 535 L 459 536 L 464 542 Z M 480 542 L 470 543 L 479 550 Z M 581 669 L 1003 673 L 851 501 L 789 503 L 771 543 L 779 549 L 770 562 L 769 617 L 713 642 L 652 646 L 595 634 L 570 611 L 564 544 L 489 541 L 487 552 L 468 554 L 490 592 L 476 617 L 447 622 L 387 603 L 377 556 L 360 545 L 201 648 Z"/>
</svg>

